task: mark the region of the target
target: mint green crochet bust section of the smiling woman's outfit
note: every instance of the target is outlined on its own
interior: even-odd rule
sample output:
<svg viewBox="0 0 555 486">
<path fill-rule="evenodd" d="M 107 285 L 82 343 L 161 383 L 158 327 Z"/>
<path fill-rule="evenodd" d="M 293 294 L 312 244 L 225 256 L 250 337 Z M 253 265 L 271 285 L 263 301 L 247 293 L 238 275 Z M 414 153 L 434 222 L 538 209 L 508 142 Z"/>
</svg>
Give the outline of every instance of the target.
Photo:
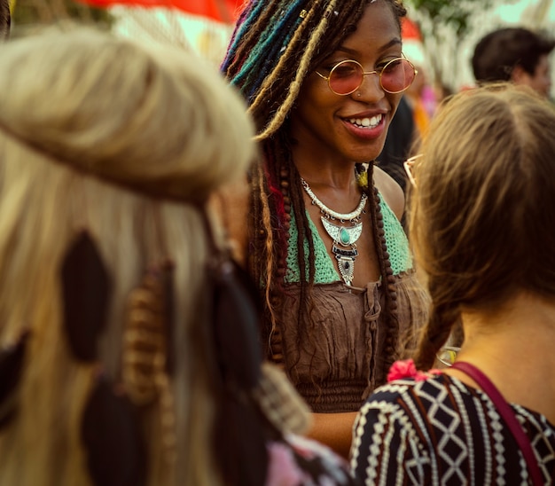
<svg viewBox="0 0 555 486">
<path fill-rule="evenodd" d="M 409 241 L 403 231 L 403 226 L 399 223 L 397 216 L 387 206 L 387 202 L 379 196 L 379 206 L 384 217 L 384 231 L 386 232 L 387 253 L 394 275 L 399 275 L 403 271 L 412 268 L 412 258 L 410 256 Z M 330 284 L 341 280 L 339 273 L 335 270 L 332 258 L 328 255 L 324 246 L 324 241 L 318 234 L 316 225 L 309 218 L 309 226 L 314 239 L 315 265 L 316 274 L 314 276 L 315 284 Z M 285 282 L 293 283 L 301 280 L 301 272 L 299 270 L 297 240 L 299 232 L 297 224 L 291 214 L 291 228 L 289 231 L 289 251 L 287 252 L 287 271 L 285 273 Z M 305 255 L 309 255 L 309 243 L 304 242 Z M 308 257 L 307 257 L 308 258 Z M 307 276 L 309 278 L 309 263 L 307 261 Z"/>
</svg>

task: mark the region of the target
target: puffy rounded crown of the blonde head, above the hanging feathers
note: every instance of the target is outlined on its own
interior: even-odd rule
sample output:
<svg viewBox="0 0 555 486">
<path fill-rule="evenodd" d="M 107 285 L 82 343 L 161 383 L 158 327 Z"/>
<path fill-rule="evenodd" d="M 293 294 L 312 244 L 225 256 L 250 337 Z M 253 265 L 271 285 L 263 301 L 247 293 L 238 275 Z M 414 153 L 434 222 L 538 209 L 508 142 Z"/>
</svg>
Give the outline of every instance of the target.
<svg viewBox="0 0 555 486">
<path fill-rule="evenodd" d="M 152 195 L 200 202 L 240 173 L 244 107 L 202 59 L 89 30 L 4 49 L 5 135 L 44 156 Z"/>
</svg>

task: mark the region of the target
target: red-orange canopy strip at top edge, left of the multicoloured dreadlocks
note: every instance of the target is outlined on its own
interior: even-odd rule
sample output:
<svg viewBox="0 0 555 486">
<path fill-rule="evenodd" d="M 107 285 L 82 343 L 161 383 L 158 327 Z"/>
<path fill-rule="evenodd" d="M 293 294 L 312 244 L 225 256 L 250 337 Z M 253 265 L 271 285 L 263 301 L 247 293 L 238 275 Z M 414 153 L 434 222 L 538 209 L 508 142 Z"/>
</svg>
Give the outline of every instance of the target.
<svg viewBox="0 0 555 486">
<path fill-rule="evenodd" d="M 129 7 L 176 8 L 192 15 L 200 15 L 224 23 L 235 23 L 245 0 L 81 0 L 95 7 L 115 4 Z"/>
</svg>

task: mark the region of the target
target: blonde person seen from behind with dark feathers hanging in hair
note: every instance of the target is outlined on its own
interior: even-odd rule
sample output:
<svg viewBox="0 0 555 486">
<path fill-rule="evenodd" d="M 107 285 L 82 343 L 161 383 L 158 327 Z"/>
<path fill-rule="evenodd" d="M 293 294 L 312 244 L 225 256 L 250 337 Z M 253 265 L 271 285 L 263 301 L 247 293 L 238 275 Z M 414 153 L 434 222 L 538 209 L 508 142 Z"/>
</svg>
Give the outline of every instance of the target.
<svg viewBox="0 0 555 486">
<path fill-rule="evenodd" d="M 80 27 L 0 56 L 0 484 L 350 484 L 262 364 L 207 200 L 253 160 L 217 70 Z"/>
</svg>

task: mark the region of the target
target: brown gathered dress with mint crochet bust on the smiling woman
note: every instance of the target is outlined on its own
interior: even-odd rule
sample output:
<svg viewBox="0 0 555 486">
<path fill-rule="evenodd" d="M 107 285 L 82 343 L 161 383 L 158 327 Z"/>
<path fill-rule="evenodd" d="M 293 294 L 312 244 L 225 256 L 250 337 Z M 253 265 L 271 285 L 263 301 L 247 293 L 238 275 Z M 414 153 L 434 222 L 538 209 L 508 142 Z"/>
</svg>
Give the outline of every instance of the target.
<svg viewBox="0 0 555 486">
<path fill-rule="evenodd" d="M 401 224 L 383 201 L 381 208 L 397 284 L 399 342 L 411 346 L 418 328 L 426 322 L 429 298 L 411 269 Z M 290 252 L 296 245 L 294 232 Z M 337 272 L 330 270 L 332 262 L 316 228 L 312 234 L 317 278 L 311 291 L 309 322 L 299 322 L 298 272 L 290 272 L 268 354 L 284 366 L 313 412 L 356 412 L 387 378 L 381 317 L 385 295 L 379 282 L 369 282 L 365 288 L 345 285 Z M 288 258 L 290 268 L 295 258 Z"/>
</svg>

